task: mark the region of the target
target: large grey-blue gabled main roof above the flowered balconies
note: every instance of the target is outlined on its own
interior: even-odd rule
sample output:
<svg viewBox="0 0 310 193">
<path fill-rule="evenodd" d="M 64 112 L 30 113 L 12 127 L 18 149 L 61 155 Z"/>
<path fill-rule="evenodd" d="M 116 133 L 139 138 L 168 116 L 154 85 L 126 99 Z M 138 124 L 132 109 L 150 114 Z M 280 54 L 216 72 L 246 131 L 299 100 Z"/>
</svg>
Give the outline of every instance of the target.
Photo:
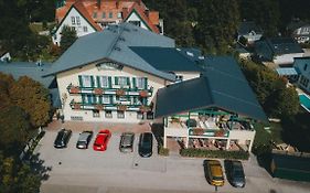
<svg viewBox="0 0 310 193">
<path fill-rule="evenodd" d="M 174 81 L 174 76 L 156 69 L 129 46 L 174 47 L 174 40 L 148 30 L 121 23 L 109 25 L 103 32 L 82 36 L 53 64 L 45 75 L 57 74 L 100 60 L 110 60 L 149 74 Z"/>
</svg>

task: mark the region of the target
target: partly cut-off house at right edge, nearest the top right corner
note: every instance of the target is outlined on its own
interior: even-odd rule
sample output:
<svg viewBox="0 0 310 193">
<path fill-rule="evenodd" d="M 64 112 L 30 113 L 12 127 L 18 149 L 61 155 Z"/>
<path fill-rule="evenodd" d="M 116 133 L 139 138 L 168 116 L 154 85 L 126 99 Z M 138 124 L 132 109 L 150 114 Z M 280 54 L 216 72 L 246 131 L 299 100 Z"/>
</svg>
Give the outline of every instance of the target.
<svg viewBox="0 0 310 193">
<path fill-rule="evenodd" d="M 310 23 L 292 22 L 288 25 L 288 31 L 298 43 L 310 42 Z"/>
</svg>

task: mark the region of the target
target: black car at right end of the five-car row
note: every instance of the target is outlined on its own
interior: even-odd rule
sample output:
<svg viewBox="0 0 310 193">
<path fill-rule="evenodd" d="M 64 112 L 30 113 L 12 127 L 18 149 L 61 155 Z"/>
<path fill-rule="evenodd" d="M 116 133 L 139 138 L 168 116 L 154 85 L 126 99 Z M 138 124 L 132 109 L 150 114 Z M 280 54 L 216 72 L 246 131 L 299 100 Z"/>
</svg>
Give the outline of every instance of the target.
<svg viewBox="0 0 310 193">
<path fill-rule="evenodd" d="M 139 139 L 139 154 L 143 158 L 152 156 L 153 136 L 151 132 L 143 132 Z"/>
</svg>

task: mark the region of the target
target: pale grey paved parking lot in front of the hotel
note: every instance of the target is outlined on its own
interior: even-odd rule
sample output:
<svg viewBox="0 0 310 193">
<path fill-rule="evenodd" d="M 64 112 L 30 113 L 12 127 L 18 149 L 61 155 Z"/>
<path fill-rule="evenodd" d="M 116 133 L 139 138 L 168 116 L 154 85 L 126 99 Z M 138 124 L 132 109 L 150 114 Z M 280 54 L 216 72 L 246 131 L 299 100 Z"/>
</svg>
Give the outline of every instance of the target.
<svg viewBox="0 0 310 193">
<path fill-rule="evenodd" d="M 128 126 L 131 127 L 131 126 Z M 151 158 L 138 154 L 139 132 L 136 130 L 132 153 L 121 153 L 118 149 L 122 130 L 113 130 L 106 151 L 94 151 L 93 143 L 97 131 L 101 127 L 93 127 L 94 137 L 86 150 L 76 149 L 75 144 L 81 130 L 73 130 L 72 138 L 65 149 L 53 147 L 57 129 L 47 129 L 35 152 L 50 167 L 47 181 L 43 182 L 43 193 L 106 193 L 106 192 L 214 192 L 204 175 L 203 160 L 189 159 L 178 156 L 160 157 L 157 154 L 157 141 L 153 140 Z M 221 160 L 223 163 L 223 160 Z M 300 183 L 275 181 L 257 165 L 255 159 L 244 161 L 247 176 L 245 189 L 233 187 L 225 179 L 225 185 L 218 192 L 309 192 Z M 223 165 L 223 164 L 222 164 Z M 286 182 L 288 183 L 288 182 Z M 290 191 L 286 191 L 289 190 Z"/>
</svg>

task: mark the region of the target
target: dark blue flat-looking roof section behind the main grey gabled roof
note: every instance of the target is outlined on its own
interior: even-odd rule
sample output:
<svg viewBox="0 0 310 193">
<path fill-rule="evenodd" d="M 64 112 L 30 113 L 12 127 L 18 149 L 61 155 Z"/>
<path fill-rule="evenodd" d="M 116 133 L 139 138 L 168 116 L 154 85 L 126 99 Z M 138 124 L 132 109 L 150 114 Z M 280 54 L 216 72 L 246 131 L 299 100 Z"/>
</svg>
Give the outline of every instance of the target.
<svg viewBox="0 0 310 193">
<path fill-rule="evenodd" d="M 163 72 L 202 72 L 203 69 L 189 57 L 193 57 L 192 53 L 186 57 L 180 49 L 174 47 L 130 47 L 135 53 L 142 57 L 154 68 Z M 189 51 L 188 51 L 189 52 Z"/>
</svg>

